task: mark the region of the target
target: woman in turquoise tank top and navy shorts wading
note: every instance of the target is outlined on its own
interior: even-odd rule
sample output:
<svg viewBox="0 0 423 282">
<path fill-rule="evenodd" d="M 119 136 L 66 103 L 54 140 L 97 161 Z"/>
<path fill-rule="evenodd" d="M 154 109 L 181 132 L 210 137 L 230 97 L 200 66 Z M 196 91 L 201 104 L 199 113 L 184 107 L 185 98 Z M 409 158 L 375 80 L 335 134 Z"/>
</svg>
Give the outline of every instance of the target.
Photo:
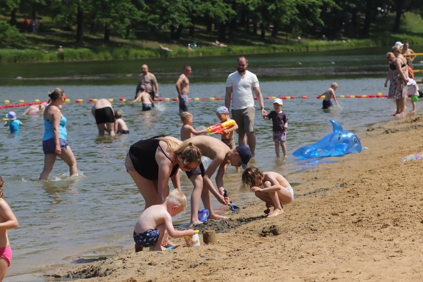
<svg viewBox="0 0 423 282">
<path fill-rule="evenodd" d="M 67 119 L 62 115 L 60 107 L 65 103 L 66 95 L 62 88 L 55 88 L 49 92 L 52 102 L 44 110 L 44 167 L 40 174 L 40 180 L 46 180 L 53 169 L 56 156 L 63 159 L 69 166 L 69 174 L 78 173 L 76 159 L 66 141 Z"/>
</svg>

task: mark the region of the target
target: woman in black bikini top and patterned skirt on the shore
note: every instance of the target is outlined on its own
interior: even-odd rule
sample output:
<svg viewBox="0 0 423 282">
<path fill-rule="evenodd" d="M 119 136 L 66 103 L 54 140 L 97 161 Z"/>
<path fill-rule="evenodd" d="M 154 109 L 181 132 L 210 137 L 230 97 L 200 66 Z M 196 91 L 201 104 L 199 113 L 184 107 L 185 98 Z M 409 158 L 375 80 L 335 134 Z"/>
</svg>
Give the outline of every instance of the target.
<svg viewBox="0 0 423 282">
<path fill-rule="evenodd" d="M 389 61 L 388 77 L 385 81 L 385 87 L 389 84 L 388 98 L 395 99 L 397 111 L 394 116 L 405 116 L 405 104 L 407 99 L 408 68 L 407 60 L 401 54 L 403 47 L 395 45 L 392 52 L 386 54 Z"/>
</svg>

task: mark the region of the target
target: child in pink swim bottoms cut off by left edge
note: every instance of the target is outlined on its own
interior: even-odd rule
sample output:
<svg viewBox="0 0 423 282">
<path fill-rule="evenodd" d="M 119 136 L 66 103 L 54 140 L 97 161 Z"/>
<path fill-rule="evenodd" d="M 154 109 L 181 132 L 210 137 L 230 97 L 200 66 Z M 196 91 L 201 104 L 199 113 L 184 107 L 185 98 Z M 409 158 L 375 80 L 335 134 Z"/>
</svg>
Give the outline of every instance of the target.
<svg viewBox="0 0 423 282">
<path fill-rule="evenodd" d="M 18 222 L 13 211 L 3 200 L 3 179 L 0 176 L 0 281 L 6 275 L 7 268 L 12 260 L 12 249 L 10 248 L 7 230 L 17 228 Z"/>
</svg>

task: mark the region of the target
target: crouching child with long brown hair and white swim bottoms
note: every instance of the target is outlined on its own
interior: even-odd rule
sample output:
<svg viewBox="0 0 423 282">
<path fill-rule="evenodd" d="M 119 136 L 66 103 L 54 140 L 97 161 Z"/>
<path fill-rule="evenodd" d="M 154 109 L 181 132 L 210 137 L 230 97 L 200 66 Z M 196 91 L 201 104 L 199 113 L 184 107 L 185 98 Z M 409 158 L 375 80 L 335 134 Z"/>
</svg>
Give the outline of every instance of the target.
<svg viewBox="0 0 423 282">
<path fill-rule="evenodd" d="M 243 188 L 250 188 L 256 197 L 266 202 L 266 208 L 274 207 L 268 217 L 282 214 L 282 205 L 287 205 L 294 200 L 294 190 L 289 182 L 277 172 L 263 172 L 257 167 L 251 166 L 242 173 L 241 185 Z M 261 185 L 264 188 L 260 188 Z"/>
</svg>

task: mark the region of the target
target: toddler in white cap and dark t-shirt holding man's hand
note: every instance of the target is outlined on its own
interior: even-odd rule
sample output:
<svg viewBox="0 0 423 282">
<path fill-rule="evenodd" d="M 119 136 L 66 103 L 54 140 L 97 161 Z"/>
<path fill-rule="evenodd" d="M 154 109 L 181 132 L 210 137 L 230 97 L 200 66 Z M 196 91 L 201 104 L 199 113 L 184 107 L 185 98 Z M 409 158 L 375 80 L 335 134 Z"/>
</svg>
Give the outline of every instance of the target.
<svg viewBox="0 0 423 282">
<path fill-rule="evenodd" d="M 288 128 L 288 118 L 282 112 L 282 99 L 277 98 L 273 101 L 274 111 L 271 111 L 267 116 L 263 116 L 265 120 L 272 119 L 273 123 L 273 141 L 275 141 L 276 156 L 279 157 L 279 143 L 281 143 L 283 157 L 286 158 L 286 129 Z"/>
</svg>

